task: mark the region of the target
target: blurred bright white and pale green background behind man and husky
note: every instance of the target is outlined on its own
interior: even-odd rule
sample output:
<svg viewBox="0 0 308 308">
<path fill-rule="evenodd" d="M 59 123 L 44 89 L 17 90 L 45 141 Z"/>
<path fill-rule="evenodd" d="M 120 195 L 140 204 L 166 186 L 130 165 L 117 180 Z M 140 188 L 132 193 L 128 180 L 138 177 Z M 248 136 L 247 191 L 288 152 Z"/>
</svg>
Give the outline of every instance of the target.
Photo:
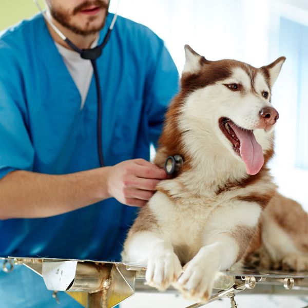
<svg viewBox="0 0 308 308">
<path fill-rule="evenodd" d="M 117 1 L 111 0 L 114 12 Z M 0 31 L 37 13 L 32 0 L 1 0 Z M 208 60 L 236 59 L 259 67 L 286 56 L 273 89 L 280 113 L 272 173 L 283 195 L 308 211 L 308 0 L 122 0 L 118 13 L 155 31 L 181 72 L 184 45 Z M 123 307 L 184 307 L 174 295 L 138 295 Z M 305 298 L 239 295 L 242 307 L 303 307 Z M 223 300 L 209 307 L 228 307 Z"/>
</svg>

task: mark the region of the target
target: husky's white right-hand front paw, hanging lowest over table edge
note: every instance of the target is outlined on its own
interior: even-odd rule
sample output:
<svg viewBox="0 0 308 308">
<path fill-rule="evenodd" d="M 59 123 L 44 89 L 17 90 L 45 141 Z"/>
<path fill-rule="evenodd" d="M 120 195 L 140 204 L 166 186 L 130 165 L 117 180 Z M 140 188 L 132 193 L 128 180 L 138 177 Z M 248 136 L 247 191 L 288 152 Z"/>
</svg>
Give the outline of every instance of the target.
<svg viewBox="0 0 308 308">
<path fill-rule="evenodd" d="M 198 264 L 191 260 L 184 267 L 184 273 L 174 284 L 185 297 L 196 301 L 208 300 L 215 278 L 218 274 L 216 267 L 211 264 Z"/>
</svg>

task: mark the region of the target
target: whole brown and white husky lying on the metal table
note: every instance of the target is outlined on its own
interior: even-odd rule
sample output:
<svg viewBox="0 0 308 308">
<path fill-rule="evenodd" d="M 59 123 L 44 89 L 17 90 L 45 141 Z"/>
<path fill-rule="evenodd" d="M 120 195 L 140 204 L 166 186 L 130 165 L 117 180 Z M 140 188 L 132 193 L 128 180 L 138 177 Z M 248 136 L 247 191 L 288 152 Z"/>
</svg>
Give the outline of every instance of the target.
<svg viewBox="0 0 308 308">
<path fill-rule="evenodd" d="M 181 89 L 155 158 L 163 167 L 168 156 L 181 155 L 184 164 L 141 209 L 122 258 L 146 266 L 149 285 L 164 290 L 172 284 L 206 300 L 218 272 L 244 257 L 266 255 L 262 265 L 284 261 L 306 269 L 308 219 L 298 204 L 277 194 L 266 167 L 279 118 L 272 86 L 285 57 L 255 68 L 208 61 L 187 45 L 185 53 Z M 294 206 L 297 217 L 286 217 Z"/>
</svg>

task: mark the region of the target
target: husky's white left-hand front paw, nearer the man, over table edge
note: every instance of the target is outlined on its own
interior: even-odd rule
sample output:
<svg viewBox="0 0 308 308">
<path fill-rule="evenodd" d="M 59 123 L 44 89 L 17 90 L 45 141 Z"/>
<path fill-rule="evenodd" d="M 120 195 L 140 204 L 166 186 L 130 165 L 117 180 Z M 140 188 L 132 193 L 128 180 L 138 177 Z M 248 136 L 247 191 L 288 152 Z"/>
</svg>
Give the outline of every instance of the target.
<svg viewBox="0 0 308 308">
<path fill-rule="evenodd" d="M 152 255 L 148 259 L 145 274 L 146 284 L 158 288 L 160 291 L 178 279 L 182 273 L 182 266 L 174 252 Z"/>
</svg>

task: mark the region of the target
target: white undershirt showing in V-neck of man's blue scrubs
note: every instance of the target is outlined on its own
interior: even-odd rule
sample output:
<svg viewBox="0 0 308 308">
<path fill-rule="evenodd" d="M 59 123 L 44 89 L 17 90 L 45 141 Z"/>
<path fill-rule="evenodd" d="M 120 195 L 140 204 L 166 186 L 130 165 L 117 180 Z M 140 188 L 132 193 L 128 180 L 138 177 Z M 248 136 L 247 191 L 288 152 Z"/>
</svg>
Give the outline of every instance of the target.
<svg viewBox="0 0 308 308">
<path fill-rule="evenodd" d="M 95 41 L 92 43 L 91 48 L 97 46 L 98 42 L 99 42 L 99 37 L 97 37 Z M 82 57 L 78 52 L 67 49 L 56 42 L 55 46 L 62 55 L 63 61 L 68 71 L 70 72 L 70 75 L 72 76 L 72 79 L 76 87 L 80 92 L 81 95 L 80 109 L 82 109 L 87 98 L 93 74 L 93 67 L 91 61 L 82 59 Z"/>
</svg>

